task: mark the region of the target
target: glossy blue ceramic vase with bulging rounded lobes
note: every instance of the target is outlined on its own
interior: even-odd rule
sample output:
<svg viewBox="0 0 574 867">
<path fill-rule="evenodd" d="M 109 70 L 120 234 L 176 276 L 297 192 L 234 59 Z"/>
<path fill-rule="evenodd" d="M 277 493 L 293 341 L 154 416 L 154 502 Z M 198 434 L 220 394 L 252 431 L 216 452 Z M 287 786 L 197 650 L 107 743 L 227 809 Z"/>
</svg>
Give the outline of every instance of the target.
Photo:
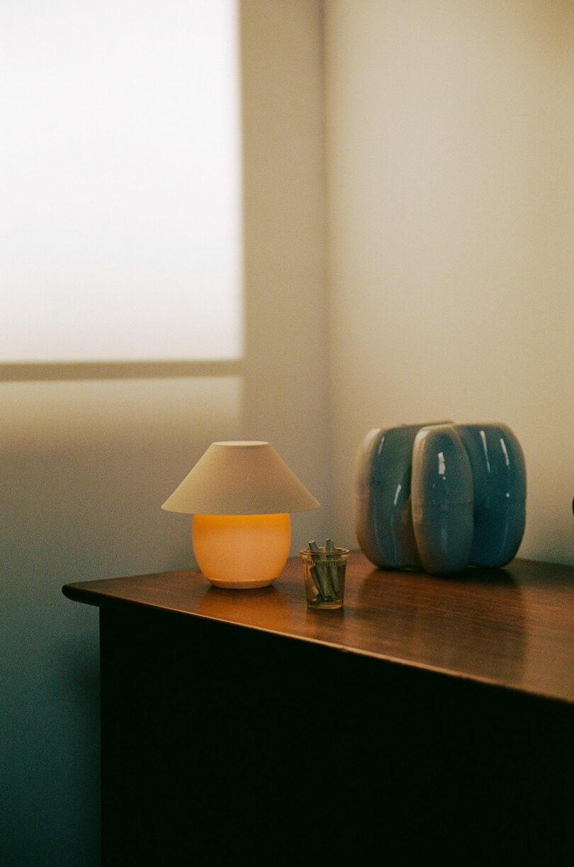
<svg viewBox="0 0 574 867">
<path fill-rule="evenodd" d="M 384 569 L 500 567 L 526 524 L 526 465 L 504 424 L 377 428 L 355 463 L 358 543 Z"/>
</svg>

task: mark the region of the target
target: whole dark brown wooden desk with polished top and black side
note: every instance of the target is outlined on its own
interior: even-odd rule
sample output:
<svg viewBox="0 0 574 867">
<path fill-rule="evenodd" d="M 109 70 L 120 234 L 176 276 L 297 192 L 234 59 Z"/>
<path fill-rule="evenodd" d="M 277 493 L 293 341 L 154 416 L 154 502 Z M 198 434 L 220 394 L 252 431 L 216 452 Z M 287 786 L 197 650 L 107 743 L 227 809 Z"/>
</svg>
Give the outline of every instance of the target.
<svg viewBox="0 0 574 867">
<path fill-rule="evenodd" d="M 100 607 L 105 867 L 571 863 L 574 568 L 64 593 Z"/>
</svg>

